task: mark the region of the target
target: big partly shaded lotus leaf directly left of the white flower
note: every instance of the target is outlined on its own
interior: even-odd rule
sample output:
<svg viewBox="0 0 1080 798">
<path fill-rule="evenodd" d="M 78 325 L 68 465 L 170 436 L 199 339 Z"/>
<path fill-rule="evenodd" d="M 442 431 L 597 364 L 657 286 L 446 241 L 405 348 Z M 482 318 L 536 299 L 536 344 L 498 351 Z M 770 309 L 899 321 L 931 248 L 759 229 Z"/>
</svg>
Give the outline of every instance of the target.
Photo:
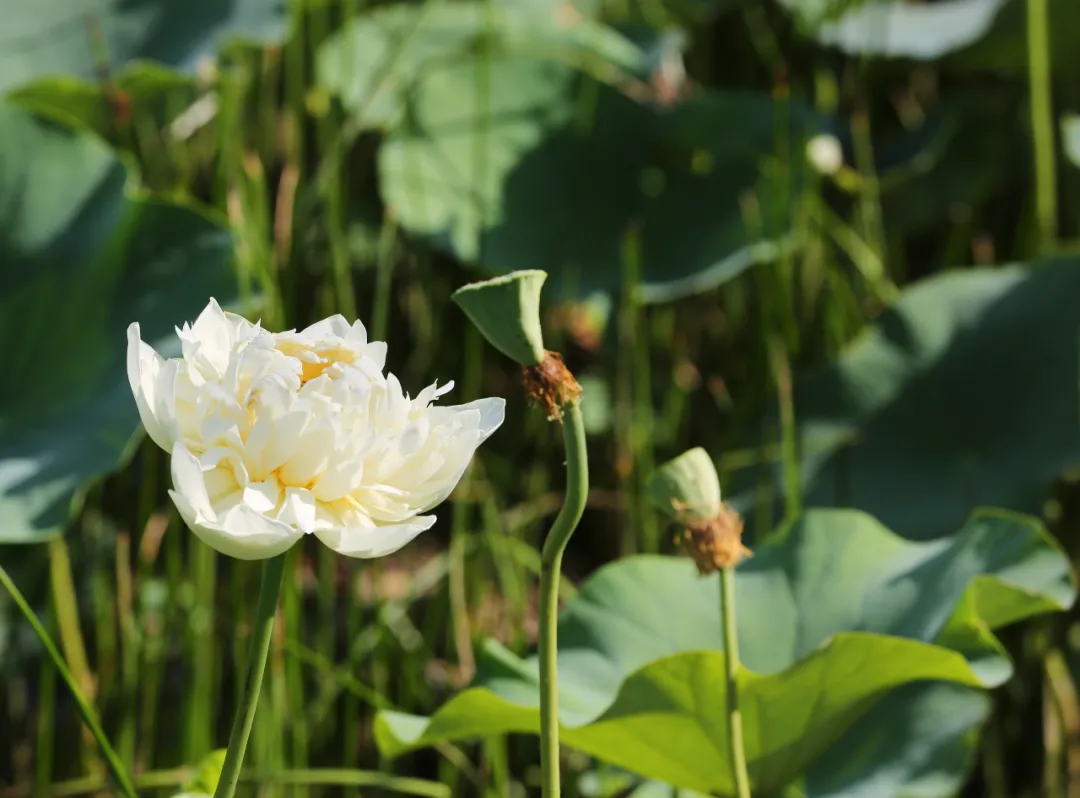
<svg viewBox="0 0 1080 798">
<path fill-rule="evenodd" d="M 57 533 L 123 462 L 127 325 L 170 350 L 211 296 L 235 299 L 229 232 L 126 180 L 96 138 L 0 106 L 0 542 Z"/>
</svg>

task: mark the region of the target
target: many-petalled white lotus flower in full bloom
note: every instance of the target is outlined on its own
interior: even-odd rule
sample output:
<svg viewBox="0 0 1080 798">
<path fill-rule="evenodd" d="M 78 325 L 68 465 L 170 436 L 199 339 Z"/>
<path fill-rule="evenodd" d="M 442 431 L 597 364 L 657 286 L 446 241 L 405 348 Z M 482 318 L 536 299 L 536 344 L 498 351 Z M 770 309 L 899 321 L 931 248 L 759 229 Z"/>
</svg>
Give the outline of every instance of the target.
<svg viewBox="0 0 1080 798">
<path fill-rule="evenodd" d="M 313 533 L 381 557 L 431 527 L 504 402 L 432 403 L 383 376 L 386 344 L 340 315 L 271 334 L 211 300 L 163 360 L 127 328 L 127 378 L 154 443 L 172 452 L 170 496 L 222 554 L 261 559 Z"/>
</svg>

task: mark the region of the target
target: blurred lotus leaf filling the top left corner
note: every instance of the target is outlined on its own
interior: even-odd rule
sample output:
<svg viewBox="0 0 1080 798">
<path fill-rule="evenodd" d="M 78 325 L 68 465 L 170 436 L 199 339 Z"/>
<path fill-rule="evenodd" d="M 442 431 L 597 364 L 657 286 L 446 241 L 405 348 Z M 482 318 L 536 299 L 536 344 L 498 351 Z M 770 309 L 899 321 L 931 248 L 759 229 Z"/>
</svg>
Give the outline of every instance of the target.
<svg viewBox="0 0 1080 798">
<path fill-rule="evenodd" d="M 276 39 L 285 24 L 285 0 L 0 0 L 0 92 L 134 59 L 192 71 L 222 39 Z"/>
</svg>

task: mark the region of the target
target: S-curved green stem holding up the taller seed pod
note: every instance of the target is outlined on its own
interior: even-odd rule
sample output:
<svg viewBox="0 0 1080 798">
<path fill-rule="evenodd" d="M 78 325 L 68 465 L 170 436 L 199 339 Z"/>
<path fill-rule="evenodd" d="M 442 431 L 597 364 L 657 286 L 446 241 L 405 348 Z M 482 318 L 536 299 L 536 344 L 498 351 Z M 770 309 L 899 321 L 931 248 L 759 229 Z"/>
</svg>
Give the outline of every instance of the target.
<svg viewBox="0 0 1080 798">
<path fill-rule="evenodd" d="M 589 496 L 589 460 L 581 408 L 572 403 L 563 419 L 566 498 L 540 555 L 540 771 L 543 798 L 558 798 L 558 579 L 563 552 L 581 520 Z"/>
</svg>

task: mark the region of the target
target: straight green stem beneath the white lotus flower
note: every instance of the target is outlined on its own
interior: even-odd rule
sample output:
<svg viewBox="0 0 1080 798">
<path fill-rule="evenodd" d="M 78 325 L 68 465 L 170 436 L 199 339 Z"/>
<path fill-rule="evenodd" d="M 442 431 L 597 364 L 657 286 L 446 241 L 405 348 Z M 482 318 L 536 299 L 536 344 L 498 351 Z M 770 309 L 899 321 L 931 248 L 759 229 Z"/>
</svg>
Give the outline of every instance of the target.
<svg viewBox="0 0 1080 798">
<path fill-rule="evenodd" d="M 232 798 L 240 780 L 240 766 L 244 762 L 247 738 L 255 722 L 255 711 L 259 705 L 262 689 L 262 674 L 270 653 L 270 638 L 273 636 L 273 617 L 278 611 L 278 594 L 281 593 L 281 578 L 285 568 L 285 554 L 268 559 L 262 566 L 262 583 L 259 585 L 259 603 L 255 608 L 255 623 L 252 625 L 252 640 L 247 649 L 247 684 L 241 696 L 237 716 L 232 720 L 229 748 L 221 767 L 214 798 Z"/>
</svg>

